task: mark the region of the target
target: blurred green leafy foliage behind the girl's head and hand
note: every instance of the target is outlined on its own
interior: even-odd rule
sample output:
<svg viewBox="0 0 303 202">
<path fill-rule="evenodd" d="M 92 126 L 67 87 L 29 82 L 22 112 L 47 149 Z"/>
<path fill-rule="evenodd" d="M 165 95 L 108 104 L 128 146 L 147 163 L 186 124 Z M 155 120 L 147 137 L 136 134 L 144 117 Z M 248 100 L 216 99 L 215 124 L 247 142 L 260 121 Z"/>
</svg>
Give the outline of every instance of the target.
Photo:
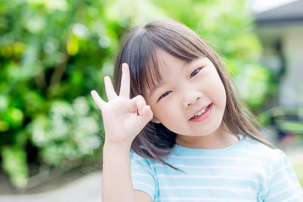
<svg viewBox="0 0 303 202">
<path fill-rule="evenodd" d="M 259 109 L 269 73 L 245 1 L 6 0 L 0 4 L 0 153 L 16 187 L 26 186 L 28 147 L 35 163 L 61 166 L 102 147 L 90 90 L 105 97 L 122 33 L 174 18 L 227 59 L 251 109 Z M 256 89 L 258 86 L 258 89 Z M 30 148 L 31 148 L 30 147 Z"/>
</svg>

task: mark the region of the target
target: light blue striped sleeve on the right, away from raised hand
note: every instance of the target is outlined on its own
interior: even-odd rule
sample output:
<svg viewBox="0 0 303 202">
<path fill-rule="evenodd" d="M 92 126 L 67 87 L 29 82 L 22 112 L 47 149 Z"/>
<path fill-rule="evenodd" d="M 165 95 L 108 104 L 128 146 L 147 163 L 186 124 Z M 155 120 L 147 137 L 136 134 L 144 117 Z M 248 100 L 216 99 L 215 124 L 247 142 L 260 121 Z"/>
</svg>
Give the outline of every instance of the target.
<svg viewBox="0 0 303 202">
<path fill-rule="evenodd" d="M 275 149 L 278 159 L 273 165 L 270 187 L 264 202 L 302 202 L 303 190 L 289 160 L 282 150 Z"/>
</svg>

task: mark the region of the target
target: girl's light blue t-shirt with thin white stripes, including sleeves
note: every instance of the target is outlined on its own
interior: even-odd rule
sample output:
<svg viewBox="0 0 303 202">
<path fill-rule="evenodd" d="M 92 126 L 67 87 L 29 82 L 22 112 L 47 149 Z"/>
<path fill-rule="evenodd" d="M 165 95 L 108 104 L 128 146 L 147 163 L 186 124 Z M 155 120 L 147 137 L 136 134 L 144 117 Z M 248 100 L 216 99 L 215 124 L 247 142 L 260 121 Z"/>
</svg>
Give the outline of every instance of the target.
<svg viewBox="0 0 303 202">
<path fill-rule="evenodd" d="M 242 137 L 221 149 L 176 145 L 162 163 L 131 151 L 135 190 L 153 201 L 303 201 L 303 191 L 283 151 Z"/>
</svg>

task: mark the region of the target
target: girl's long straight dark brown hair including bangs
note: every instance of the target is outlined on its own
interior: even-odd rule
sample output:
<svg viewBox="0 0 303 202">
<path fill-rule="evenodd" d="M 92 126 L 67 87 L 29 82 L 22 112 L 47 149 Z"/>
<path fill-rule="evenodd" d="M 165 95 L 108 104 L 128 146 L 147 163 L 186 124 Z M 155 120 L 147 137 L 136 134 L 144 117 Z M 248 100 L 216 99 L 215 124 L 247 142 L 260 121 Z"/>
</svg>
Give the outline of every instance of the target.
<svg viewBox="0 0 303 202">
<path fill-rule="evenodd" d="M 157 20 L 145 26 L 134 27 L 125 35 L 114 70 L 113 83 L 117 94 L 123 63 L 127 63 L 130 68 L 130 98 L 144 96 L 146 89 L 162 81 L 158 69 L 161 60 L 157 57 L 160 49 L 185 62 L 200 57 L 209 58 L 226 91 L 223 124 L 233 134 L 249 136 L 273 147 L 256 128 L 259 126 L 256 118 L 244 103 L 239 102 L 239 93 L 219 55 L 198 34 L 175 20 Z M 149 122 L 134 139 L 131 148 L 142 157 L 165 163 L 163 159 L 171 153 L 175 138 L 176 134 L 162 124 Z"/>
</svg>

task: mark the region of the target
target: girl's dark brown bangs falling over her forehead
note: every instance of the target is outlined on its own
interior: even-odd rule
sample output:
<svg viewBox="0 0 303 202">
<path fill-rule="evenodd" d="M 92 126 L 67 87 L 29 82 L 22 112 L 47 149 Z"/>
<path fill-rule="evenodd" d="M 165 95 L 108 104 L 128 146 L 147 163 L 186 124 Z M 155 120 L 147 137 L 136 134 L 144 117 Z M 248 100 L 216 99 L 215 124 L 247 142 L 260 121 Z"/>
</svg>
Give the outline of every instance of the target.
<svg viewBox="0 0 303 202">
<path fill-rule="evenodd" d="M 161 71 L 166 68 L 160 68 L 165 65 L 162 51 L 185 63 L 208 57 L 205 42 L 186 26 L 180 26 L 179 23 L 177 25 L 173 26 L 170 22 L 163 28 L 163 24 L 153 27 L 147 24 L 134 30 L 135 33 L 129 41 L 131 45 L 126 44 L 127 53 L 131 55 L 127 57 L 129 60 L 126 60 L 133 78 L 131 80 L 134 82 L 131 87 L 137 87 L 142 95 L 148 95 L 146 92 L 153 91 L 157 84 L 163 81 Z"/>
</svg>

